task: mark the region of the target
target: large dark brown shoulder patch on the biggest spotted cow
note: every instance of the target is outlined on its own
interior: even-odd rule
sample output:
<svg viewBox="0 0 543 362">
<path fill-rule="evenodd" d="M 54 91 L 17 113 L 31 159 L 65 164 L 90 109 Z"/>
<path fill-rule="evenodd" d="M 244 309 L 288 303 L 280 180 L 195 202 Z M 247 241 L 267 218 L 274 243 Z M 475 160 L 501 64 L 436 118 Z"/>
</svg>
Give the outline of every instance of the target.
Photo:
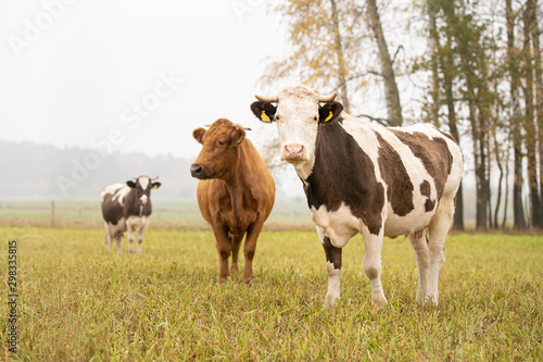
<svg viewBox="0 0 543 362">
<path fill-rule="evenodd" d="M 325 205 L 328 211 L 337 211 L 343 202 L 371 234 L 378 235 L 384 187 L 377 182 L 369 157 L 341 126 L 343 120 L 337 121 L 318 125 L 315 164 L 304 184 L 307 204 L 310 209 Z"/>
</svg>

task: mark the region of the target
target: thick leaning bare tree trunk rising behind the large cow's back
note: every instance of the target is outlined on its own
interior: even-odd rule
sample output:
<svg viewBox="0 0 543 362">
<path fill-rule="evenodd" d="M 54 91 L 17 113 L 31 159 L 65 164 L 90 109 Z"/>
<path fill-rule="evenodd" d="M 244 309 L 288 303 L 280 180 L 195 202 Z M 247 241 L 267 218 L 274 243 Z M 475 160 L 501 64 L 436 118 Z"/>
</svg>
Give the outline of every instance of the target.
<svg viewBox="0 0 543 362">
<path fill-rule="evenodd" d="M 381 72 L 384 79 L 384 98 L 387 100 L 389 122 L 392 126 L 401 126 L 403 118 L 402 105 L 400 104 L 400 92 L 397 91 L 394 70 L 392 67 L 392 59 L 390 58 L 387 40 L 384 39 L 384 34 L 382 33 L 381 20 L 379 18 L 379 12 L 377 11 L 376 0 L 368 0 L 367 4 L 369 26 L 374 32 L 381 59 Z"/>
</svg>

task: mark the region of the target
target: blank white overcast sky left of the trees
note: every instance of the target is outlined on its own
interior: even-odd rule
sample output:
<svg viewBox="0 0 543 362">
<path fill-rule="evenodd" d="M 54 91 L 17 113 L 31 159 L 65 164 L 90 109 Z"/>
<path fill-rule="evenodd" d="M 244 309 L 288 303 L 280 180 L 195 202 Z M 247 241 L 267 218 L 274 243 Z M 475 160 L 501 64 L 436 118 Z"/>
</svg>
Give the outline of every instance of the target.
<svg viewBox="0 0 543 362">
<path fill-rule="evenodd" d="M 257 138 L 249 105 L 286 47 L 262 0 L 1 1 L 0 24 L 0 138 L 150 155 L 195 157 L 219 117 Z"/>
</svg>

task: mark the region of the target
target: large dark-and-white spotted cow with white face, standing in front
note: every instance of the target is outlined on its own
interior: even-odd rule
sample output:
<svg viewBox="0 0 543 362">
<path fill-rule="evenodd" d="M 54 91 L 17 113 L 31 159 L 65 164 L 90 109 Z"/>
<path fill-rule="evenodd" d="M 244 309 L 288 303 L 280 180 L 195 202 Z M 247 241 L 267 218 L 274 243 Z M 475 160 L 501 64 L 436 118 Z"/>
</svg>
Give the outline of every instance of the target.
<svg viewBox="0 0 543 362">
<path fill-rule="evenodd" d="M 358 233 L 364 237 L 363 264 L 372 303 L 387 303 L 381 286 L 383 236 L 407 235 L 418 265 L 417 300 L 437 304 L 445 237 L 464 166 L 453 137 L 429 124 L 371 124 L 343 112 L 333 101 L 336 95 L 323 97 L 304 86 L 256 98 L 251 110 L 261 121 L 277 124 L 281 159 L 302 179 L 325 248 L 325 304 L 333 305 L 340 298 L 341 248 Z"/>
</svg>

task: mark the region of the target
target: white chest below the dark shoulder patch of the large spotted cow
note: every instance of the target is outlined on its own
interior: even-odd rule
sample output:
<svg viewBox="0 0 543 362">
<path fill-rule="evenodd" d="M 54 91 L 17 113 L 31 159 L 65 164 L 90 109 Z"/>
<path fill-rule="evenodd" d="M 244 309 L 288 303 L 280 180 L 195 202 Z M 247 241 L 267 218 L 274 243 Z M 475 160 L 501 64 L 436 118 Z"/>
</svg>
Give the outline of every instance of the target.
<svg viewBox="0 0 543 362">
<path fill-rule="evenodd" d="M 320 205 L 318 210 L 312 207 L 311 213 L 315 225 L 323 228 L 336 248 L 343 248 L 363 226 L 363 222 L 344 203 L 336 211 L 328 211 L 325 205 Z"/>
</svg>

